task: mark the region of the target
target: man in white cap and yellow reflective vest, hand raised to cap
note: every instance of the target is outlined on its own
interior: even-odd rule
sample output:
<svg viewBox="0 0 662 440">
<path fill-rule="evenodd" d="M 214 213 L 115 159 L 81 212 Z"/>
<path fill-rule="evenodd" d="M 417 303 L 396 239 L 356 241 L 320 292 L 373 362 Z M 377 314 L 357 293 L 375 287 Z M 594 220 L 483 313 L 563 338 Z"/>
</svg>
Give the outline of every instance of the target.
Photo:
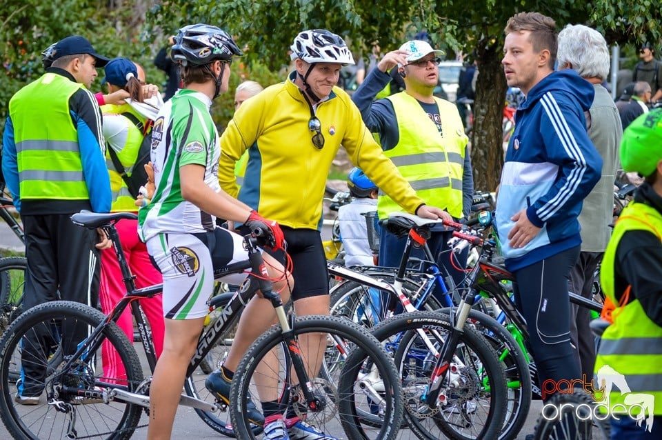
<svg viewBox="0 0 662 440">
<path fill-rule="evenodd" d="M 468 137 L 457 107 L 434 97 L 439 81 L 441 50 L 434 50 L 427 41 L 412 40 L 399 50 L 386 54 L 377 69 L 372 70 L 352 100 L 361 110 L 363 121 L 379 134 L 381 148 L 417 191 L 419 197 L 432 206 L 439 206 L 455 219 L 469 214 L 474 189 L 471 163 L 467 150 Z M 373 102 L 375 94 L 390 81 L 388 71 L 397 66 L 405 81 L 405 90 Z M 399 211 L 397 203 L 387 194 L 377 199 L 379 218 Z M 428 241 L 438 263 L 461 283 L 466 253 L 450 261 L 448 240 L 452 232 L 435 231 Z M 398 266 L 405 239 L 398 239 L 385 228 L 381 230 L 380 266 Z M 424 257 L 422 251 L 417 257 Z M 439 292 L 441 294 L 442 292 Z"/>
</svg>

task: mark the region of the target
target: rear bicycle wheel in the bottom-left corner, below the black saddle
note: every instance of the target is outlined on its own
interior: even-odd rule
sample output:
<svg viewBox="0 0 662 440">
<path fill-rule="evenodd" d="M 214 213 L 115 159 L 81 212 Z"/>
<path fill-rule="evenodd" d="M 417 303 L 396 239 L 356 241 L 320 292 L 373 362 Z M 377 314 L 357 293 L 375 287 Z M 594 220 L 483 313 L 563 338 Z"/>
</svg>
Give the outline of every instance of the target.
<svg viewBox="0 0 662 440">
<path fill-rule="evenodd" d="M 106 316 L 71 301 L 52 301 L 31 308 L 17 318 L 0 339 L 0 417 L 15 439 L 92 438 L 128 439 L 138 425 L 141 407 L 114 397 L 115 392 L 141 392 L 138 356 L 124 332 L 108 323 L 78 359 L 63 357 L 52 364 L 52 354 L 74 354 L 79 341 Z M 101 366 L 101 341 L 119 353 L 124 377 L 106 377 Z M 48 368 L 48 362 L 51 362 Z M 22 366 L 23 396 L 35 395 L 30 406 L 17 403 L 18 386 L 10 370 Z M 28 380 L 30 379 L 30 383 Z"/>
</svg>

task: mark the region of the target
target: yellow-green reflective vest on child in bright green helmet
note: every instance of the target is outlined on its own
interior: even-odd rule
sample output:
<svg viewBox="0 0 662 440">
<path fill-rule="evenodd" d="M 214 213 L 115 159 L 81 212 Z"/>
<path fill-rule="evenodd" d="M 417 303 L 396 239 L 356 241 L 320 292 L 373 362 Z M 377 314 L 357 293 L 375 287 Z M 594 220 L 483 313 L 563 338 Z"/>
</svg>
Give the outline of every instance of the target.
<svg viewBox="0 0 662 440">
<path fill-rule="evenodd" d="M 605 250 L 600 272 L 603 291 L 614 304 L 619 303 L 614 294 L 616 248 L 623 234 L 630 230 L 648 230 L 662 240 L 662 215 L 644 203 L 632 202 L 623 209 Z M 613 387 L 609 396 L 612 412 L 639 414 L 641 408 L 626 404 L 625 399 L 628 395 L 629 399 L 636 399 L 636 394 L 650 394 L 654 398 L 654 414 L 662 415 L 662 327 L 651 321 L 637 299 L 617 307 L 612 316 L 614 323 L 603 333 L 594 372 L 603 366 L 613 368 L 623 374 L 625 383 L 634 393 L 621 394 L 625 391 Z M 599 381 L 595 386 L 602 388 Z"/>
</svg>

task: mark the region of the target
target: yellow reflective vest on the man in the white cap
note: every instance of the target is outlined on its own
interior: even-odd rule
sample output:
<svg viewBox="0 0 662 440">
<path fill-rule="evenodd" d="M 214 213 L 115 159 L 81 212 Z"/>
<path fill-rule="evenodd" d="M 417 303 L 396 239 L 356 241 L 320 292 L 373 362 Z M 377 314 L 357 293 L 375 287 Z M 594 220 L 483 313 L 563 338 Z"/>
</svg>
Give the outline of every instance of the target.
<svg viewBox="0 0 662 440">
<path fill-rule="evenodd" d="M 468 137 L 457 108 L 434 98 L 441 115 L 442 134 L 439 134 L 437 124 L 423 111 L 419 101 L 406 92 L 386 99 L 393 104 L 399 139 L 384 154 L 425 203 L 446 210 L 453 217 L 462 217 L 462 177 Z M 402 208 L 380 192 L 377 210 L 379 218 L 385 219 L 390 212 Z"/>
</svg>

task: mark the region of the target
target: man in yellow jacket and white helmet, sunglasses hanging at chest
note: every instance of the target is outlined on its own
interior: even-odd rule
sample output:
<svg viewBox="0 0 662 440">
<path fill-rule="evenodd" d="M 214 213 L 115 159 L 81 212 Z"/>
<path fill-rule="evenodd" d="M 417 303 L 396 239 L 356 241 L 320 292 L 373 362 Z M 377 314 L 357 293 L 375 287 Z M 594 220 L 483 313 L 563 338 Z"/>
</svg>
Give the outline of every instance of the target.
<svg viewBox="0 0 662 440">
<path fill-rule="evenodd" d="M 417 196 L 365 128 L 348 94 L 336 86 L 341 67 L 354 64 L 345 41 L 328 30 L 305 30 L 294 38 L 290 50 L 294 71 L 288 79 L 245 101 L 223 132 L 219 182 L 225 192 L 281 225 L 293 263 L 292 299 L 297 315 L 329 314 L 328 272 L 319 228 L 328 171 L 341 145 L 352 163 L 393 197 L 399 210 L 431 219 L 450 220 L 450 215 L 425 205 Z M 238 190 L 234 163 L 245 150 L 248 163 Z M 284 261 L 284 251 L 274 256 Z M 315 352 L 322 343 L 325 340 L 310 338 L 308 349 Z M 233 374 L 222 369 L 225 381 Z M 219 375 L 212 374 L 213 380 L 219 380 Z M 300 420 L 294 408 L 281 414 L 277 402 L 262 402 L 262 409 L 265 425 L 282 426 L 284 421 L 287 427 L 269 430 L 265 438 L 335 438 Z"/>
</svg>

